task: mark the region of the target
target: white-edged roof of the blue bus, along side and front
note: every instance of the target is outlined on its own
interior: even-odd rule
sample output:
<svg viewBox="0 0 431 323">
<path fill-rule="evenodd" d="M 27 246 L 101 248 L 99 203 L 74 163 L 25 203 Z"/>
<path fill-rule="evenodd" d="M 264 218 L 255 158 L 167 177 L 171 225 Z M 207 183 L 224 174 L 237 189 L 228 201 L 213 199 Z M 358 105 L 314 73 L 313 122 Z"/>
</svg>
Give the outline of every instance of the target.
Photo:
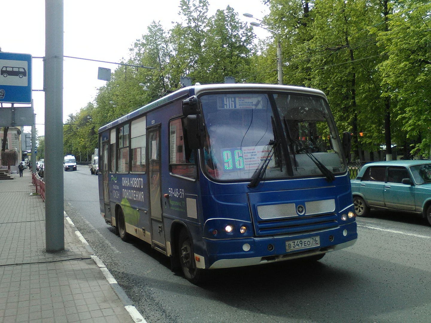
<svg viewBox="0 0 431 323">
<path fill-rule="evenodd" d="M 150 110 L 156 109 L 159 106 L 164 106 L 165 104 L 168 104 L 169 102 L 172 102 L 178 98 L 181 98 L 184 96 L 184 99 L 186 99 L 189 96 L 193 95 L 199 95 L 203 92 L 218 92 L 221 90 L 225 91 L 238 91 L 238 90 L 267 90 L 267 91 L 286 91 L 286 92 L 296 92 L 296 93 L 303 93 L 303 94 L 313 94 L 322 96 L 326 99 L 325 93 L 323 93 L 320 90 L 311 89 L 308 87 L 296 87 L 291 85 L 278 85 L 278 84 L 252 84 L 252 83 L 236 83 L 236 84 L 205 84 L 205 85 L 193 85 L 191 87 L 184 87 L 182 89 L 179 89 L 173 93 L 170 93 L 166 96 L 163 96 L 160 99 L 157 99 L 153 102 L 148 103 L 145 106 L 142 106 L 141 108 L 136 109 L 133 112 L 130 112 L 129 114 L 122 116 L 121 118 L 118 118 L 117 120 L 114 120 L 110 122 L 109 124 L 106 124 L 105 126 L 102 126 L 99 128 L 99 133 L 111 128 L 115 127 L 118 124 L 123 123 L 124 121 L 127 121 L 129 119 L 132 119 L 138 115 L 143 114 L 144 112 L 148 112 Z"/>
</svg>

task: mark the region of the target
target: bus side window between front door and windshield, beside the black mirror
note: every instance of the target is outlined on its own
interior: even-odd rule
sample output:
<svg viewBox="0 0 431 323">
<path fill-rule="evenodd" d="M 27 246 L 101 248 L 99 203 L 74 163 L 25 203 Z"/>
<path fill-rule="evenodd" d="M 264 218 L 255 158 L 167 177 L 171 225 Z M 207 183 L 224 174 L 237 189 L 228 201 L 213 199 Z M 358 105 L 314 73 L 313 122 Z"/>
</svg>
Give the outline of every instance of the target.
<svg viewBox="0 0 431 323">
<path fill-rule="evenodd" d="M 171 174 L 196 179 L 196 163 L 187 159 L 181 118 L 169 122 L 169 171 Z"/>
</svg>

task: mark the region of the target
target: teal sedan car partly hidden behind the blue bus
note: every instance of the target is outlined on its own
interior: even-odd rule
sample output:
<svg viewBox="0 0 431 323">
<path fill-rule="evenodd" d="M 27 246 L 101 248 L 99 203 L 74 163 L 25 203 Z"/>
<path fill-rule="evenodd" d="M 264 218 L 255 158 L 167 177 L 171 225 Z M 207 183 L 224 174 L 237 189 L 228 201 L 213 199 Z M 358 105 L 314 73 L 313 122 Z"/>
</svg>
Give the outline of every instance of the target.
<svg viewBox="0 0 431 323">
<path fill-rule="evenodd" d="M 351 183 L 356 215 L 380 208 L 418 213 L 431 224 L 431 161 L 365 164 Z"/>
</svg>

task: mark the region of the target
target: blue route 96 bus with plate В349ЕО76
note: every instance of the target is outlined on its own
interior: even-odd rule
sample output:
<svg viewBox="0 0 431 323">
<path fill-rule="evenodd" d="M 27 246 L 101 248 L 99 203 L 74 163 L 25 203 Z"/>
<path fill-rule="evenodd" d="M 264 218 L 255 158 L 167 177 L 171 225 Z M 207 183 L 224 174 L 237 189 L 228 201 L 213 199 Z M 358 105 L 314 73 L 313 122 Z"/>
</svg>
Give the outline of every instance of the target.
<svg viewBox="0 0 431 323">
<path fill-rule="evenodd" d="M 319 90 L 184 87 L 100 127 L 99 147 L 106 223 L 192 283 L 356 242 L 345 153 Z"/>
</svg>

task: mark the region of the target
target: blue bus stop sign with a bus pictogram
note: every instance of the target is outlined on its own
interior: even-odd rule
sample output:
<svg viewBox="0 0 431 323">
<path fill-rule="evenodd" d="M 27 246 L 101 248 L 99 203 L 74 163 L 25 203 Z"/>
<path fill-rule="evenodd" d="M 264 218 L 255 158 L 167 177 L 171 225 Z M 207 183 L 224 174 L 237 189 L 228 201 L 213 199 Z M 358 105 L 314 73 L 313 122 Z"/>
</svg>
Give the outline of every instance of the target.
<svg viewBox="0 0 431 323">
<path fill-rule="evenodd" d="M 0 102 L 31 103 L 31 55 L 0 52 Z"/>
</svg>

